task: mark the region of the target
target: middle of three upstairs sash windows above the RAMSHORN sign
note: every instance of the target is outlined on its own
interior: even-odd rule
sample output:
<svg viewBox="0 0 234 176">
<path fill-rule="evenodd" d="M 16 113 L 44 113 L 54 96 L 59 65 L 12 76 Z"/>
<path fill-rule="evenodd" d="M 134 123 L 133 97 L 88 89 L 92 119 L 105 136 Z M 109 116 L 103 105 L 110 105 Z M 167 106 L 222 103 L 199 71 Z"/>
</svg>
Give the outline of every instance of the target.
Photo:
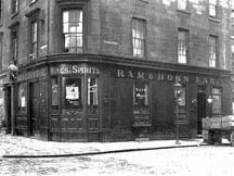
<svg viewBox="0 0 234 176">
<path fill-rule="evenodd" d="M 179 29 L 178 33 L 178 63 L 186 64 L 187 62 L 187 37 L 188 32 Z"/>
</svg>

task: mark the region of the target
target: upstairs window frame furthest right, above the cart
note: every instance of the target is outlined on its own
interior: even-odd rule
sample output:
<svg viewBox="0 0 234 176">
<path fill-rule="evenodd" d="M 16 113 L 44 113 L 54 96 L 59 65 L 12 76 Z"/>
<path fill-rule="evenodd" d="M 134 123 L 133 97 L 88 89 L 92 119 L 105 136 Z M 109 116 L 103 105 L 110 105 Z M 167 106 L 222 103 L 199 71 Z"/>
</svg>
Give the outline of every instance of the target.
<svg viewBox="0 0 234 176">
<path fill-rule="evenodd" d="M 214 41 L 214 45 L 212 43 L 212 41 Z M 213 36 L 213 35 L 209 35 L 209 67 L 218 67 L 218 59 L 219 59 L 219 55 L 218 55 L 218 49 L 219 49 L 219 46 L 218 46 L 218 36 Z M 216 51 L 216 52 L 211 52 L 211 51 Z M 214 55 L 214 58 L 213 58 Z M 214 63 L 214 64 L 213 64 Z"/>
</svg>

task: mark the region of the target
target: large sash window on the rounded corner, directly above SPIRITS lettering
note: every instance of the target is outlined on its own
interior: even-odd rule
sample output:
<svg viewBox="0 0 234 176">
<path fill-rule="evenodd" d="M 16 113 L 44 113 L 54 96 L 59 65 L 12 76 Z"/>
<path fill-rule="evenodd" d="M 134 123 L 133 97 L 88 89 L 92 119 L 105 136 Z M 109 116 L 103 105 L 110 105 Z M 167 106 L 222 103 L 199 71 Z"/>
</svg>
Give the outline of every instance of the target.
<svg viewBox="0 0 234 176">
<path fill-rule="evenodd" d="M 65 52 L 82 52 L 83 25 L 82 10 L 63 11 L 63 40 Z"/>
</svg>

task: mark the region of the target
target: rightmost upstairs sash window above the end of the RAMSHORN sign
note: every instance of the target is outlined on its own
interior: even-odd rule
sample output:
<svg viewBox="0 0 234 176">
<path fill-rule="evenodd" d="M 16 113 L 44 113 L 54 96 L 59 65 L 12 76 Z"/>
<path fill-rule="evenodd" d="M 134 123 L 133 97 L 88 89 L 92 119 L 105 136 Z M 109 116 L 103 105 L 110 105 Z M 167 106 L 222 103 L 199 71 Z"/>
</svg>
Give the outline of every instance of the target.
<svg viewBox="0 0 234 176">
<path fill-rule="evenodd" d="M 210 36 L 209 37 L 209 67 L 217 66 L 217 37 Z"/>
</svg>

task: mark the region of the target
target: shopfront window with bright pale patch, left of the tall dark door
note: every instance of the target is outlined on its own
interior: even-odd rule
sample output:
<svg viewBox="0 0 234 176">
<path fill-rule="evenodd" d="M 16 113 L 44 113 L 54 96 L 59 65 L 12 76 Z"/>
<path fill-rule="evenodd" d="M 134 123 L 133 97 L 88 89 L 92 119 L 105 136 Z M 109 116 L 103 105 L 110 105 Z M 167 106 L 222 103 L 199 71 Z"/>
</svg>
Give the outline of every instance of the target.
<svg viewBox="0 0 234 176">
<path fill-rule="evenodd" d="M 27 95 L 27 84 L 22 83 L 18 86 L 18 111 L 26 111 L 26 106 L 27 106 L 26 95 Z"/>
</svg>

